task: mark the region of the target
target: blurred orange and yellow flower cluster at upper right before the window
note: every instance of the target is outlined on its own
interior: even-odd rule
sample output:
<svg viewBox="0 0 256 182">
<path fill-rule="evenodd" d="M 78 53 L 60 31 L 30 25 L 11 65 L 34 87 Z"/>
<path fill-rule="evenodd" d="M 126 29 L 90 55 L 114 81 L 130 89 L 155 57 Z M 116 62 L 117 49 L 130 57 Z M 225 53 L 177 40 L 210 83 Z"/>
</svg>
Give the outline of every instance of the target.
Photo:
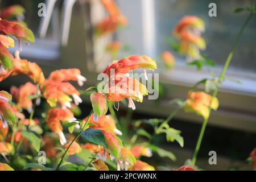
<svg viewBox="0 0 256 182">
<path fill-rule="evenodd" d="M 189 60 L 200 58 L 200 49 L 205 49 L 205 41 L 201 37 L 204 21 L 197 16 L 184 16 L 172 34 L 179 40 L 178 51 Z"/>
</svg>

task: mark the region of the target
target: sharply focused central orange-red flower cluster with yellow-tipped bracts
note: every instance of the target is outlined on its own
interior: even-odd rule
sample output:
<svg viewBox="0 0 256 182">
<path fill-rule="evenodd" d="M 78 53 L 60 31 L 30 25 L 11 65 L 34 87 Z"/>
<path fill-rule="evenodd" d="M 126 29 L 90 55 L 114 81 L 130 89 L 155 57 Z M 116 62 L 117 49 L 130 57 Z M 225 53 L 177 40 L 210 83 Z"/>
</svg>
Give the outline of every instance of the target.
<svg viewBox="0 0 256 182">
<path fill-rule="evenodd" d="M 108 81 L 104 83 L 102 90 L 98 90 L 97 93 L 93 93 L 90 96 L 94 115 L 96 114 L 99 117 L 106 114 L 106 111 L 108 111 L 106 99 L 119 102 L 127 98 L 129 101 L 128 106 L 133 110 L 135 109 L 133 100 L 143 101 L 143 96 L 148 94 L 146 86 L 128 74 L 130 71 L 138 68 L 144 69 L 144 76 L 147 80 L 146 69 L 154 70 L 157 68 L 157 65 L 154 59 L 140 55 L 133 55 L 119 61 L 113 61 L 113 63 L 108 65 L 102 72 Z"/>
</svg>

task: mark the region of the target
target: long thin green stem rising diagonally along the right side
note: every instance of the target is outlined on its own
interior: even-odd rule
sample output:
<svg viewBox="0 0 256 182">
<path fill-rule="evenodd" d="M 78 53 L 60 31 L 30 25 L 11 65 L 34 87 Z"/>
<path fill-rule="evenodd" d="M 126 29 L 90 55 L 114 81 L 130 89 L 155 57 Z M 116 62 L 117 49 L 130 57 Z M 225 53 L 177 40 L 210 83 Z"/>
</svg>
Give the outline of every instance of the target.
<svg viewBox="0 0 256 182">
<path fill-rule="evenodd" d="M 231 50 L 229 52 L 228 58 L 226 59 L 225 65 L 222 68 L 221 75 L 220 75 L 219 80 L 218 80 L 219 84 L 221 84 L 223 79 L 224 79 L 224 76 L 225 76 L 226 71 L 227 71 L 227 69 L 229 67 L 230 61 L 232 60 L 232 57 L 234 55 L 234 49 L 237 47 L 237 43 L 240 40 L 241 35 L 243 34 L 243 31 L 245 30 L 245 27 L 247 26 L 247 24 L 248 24 L 248 22 L 249 22 L 249 20 L 251 19 L 252 16 L 253 16 L 253 13 L 251 13 L 247 17 L 245 23 L 243 23 L 243 25 L 241 27 L 241 30 L 238 32 L 238 35 L 236 36 L 236 40 L 234 41 L 233 46 L 232 46 L 232 48 L 231 48 Z M 218 88 L 213 91 L 212 97 L 213 98 L 217 97 L 217 94 L 218 94 Z M 210 106 L 209 106 L 209 110 L 210 111 L 212 110 L 212 108 Z M 194 151 L 194 154 L 193 154 L 193 158 L 192 158 L 192 162 L 191 162 L 194 165 L 196 164 L 197 154 L 198 154 L 198 152 L 200 150 L 201 142 L 202 142 L 203 137 L 204 137 L 204 132 L 205 132 L 205 128 L 207 126 L 208 120 L 209 120 L 209 117 L 205 118 L 204 122 L 203 122 L 203 125 L 201 127 L 200 135 L 199 135 L 199 138 L 197 140 L 196 148 L 195 148 L 195 151 Z"/>
</svg>

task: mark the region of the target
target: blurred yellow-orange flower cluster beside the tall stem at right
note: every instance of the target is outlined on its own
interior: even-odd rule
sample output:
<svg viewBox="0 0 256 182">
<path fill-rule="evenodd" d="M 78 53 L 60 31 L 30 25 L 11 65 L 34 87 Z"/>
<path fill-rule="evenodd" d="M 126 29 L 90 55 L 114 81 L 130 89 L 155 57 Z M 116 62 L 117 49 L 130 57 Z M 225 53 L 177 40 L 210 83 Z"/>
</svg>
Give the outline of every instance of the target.
<svg viewBox="0 0 256 182">
<path fill-rule="evenodd" d="M 185 111 L 201 115 L 204 119 L 209 117 L 210 109 L 218 108 L 218 99 L 205 92 L 188 92 Z"/>
</svg>

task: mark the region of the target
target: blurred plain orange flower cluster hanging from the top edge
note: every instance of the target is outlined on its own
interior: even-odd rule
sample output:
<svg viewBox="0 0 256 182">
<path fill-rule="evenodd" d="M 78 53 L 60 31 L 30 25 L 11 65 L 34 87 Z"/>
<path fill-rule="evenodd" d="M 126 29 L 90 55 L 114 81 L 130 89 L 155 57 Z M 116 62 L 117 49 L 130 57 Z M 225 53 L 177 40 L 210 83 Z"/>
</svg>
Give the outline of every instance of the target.
<svg viewBox="0 0 256 182">
<path fill-rule="evenodd" d="M 126 17 L 122 15 L 122 12 L 118 9 L 114 0 L 101 0 L 101 3 L 104 5 L 106 11 L 108 11 L 109 17 L 96 24 L 96 35 L 111 34 L 117 30 L 117 28 L 126 25 Z"/>
</svg>

